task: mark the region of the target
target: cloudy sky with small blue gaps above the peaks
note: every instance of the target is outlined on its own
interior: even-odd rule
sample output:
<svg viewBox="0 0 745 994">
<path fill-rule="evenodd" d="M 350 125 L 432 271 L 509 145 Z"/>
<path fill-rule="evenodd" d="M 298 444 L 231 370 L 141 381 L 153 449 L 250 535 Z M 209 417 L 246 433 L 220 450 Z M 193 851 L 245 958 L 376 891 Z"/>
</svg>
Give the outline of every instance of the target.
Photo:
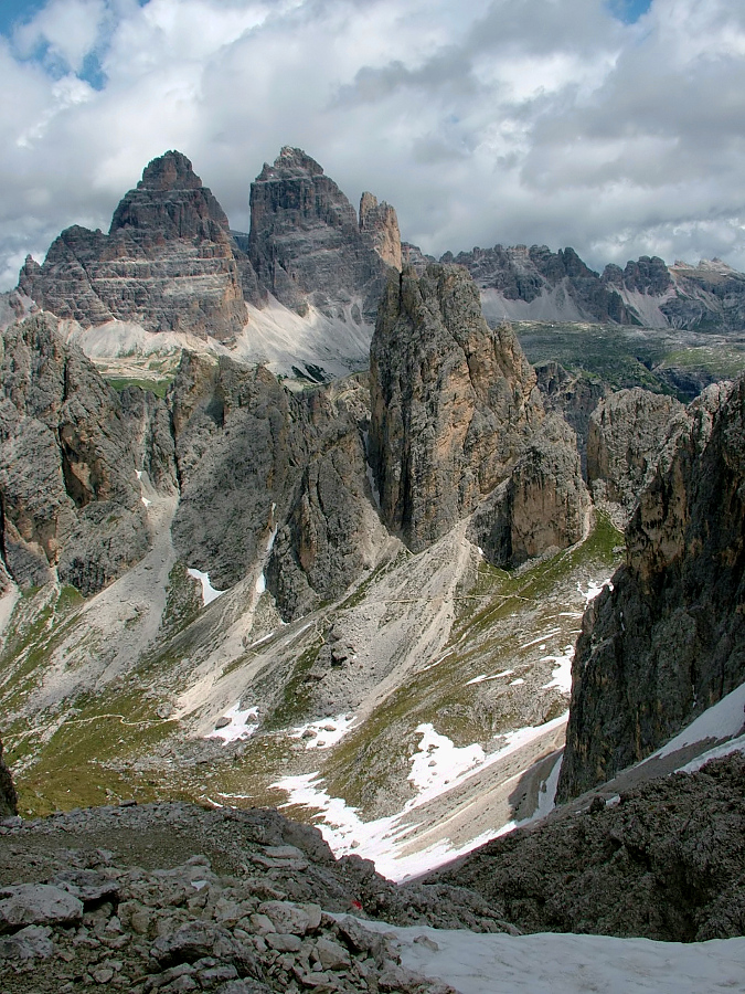
<svg viewBox="0 0 745 994">
<path fill-rule="evenodd" d="M 246 231 L 284 145 L 439 256 L 745 269 L 745 3 L 2 0 L 0 289 L 177 148 Z"/>
</svg>

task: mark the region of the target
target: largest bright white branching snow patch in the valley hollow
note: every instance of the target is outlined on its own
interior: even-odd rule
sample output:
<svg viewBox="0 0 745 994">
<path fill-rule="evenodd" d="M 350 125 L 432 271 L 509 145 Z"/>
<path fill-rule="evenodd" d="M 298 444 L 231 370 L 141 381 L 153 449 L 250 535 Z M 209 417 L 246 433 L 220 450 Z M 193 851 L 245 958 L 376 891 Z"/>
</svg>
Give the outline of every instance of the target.
<svg viewBox="0 0 745 994">
<path fill-rule="evenodd" d="M 317 823 L 318 827 L 337 856 L 358 853 L 373 859 L 379 873 L 392 880 L 403 880 L 440 866 L 446 859 L 470 853 L 471 849 L 498 835 L 510 832 L 515 825 L 514 822 L 510 822 L 507 825 L 496 826 L 493 831 L 482 833 L 458 849 L 454 848 L 449 840 L 444 839 L 422 852 L 404 855 L 401 852 L 402 844 L 405 845 L 405 837 L 414 829 L 413 825 L 402 824 L 404 816 L 464 783 L 480 770 L 493 765 L 523 745 L 560 728 L 566 722 L 566 717 L 562 715 L 545 725 L 508 732 L 501 737 L 503 740 L 501 748 L 488 755 L 478 743 L 458 748 L 447 736 L 438 734 L 432 725 L 421 725 L 417 729 L 422 736 L 419 750 L 412 760 L 408 778 L 417 789 L 417 794 L 406 802 L 398 814 L 372 822 L 363 822 L 358 808 L 348 806 L 341 797 L 331 797 L 321 786 L 320 773 L 285 776 L 272 786 L 279 787 L 289 795 L 289 800 L 283 805 L 285 807 L 298 804 L 319 810 L 321 821 Z M 547 803 L 549 801 L 543 799 L 543 805 Z"/>
</svg>

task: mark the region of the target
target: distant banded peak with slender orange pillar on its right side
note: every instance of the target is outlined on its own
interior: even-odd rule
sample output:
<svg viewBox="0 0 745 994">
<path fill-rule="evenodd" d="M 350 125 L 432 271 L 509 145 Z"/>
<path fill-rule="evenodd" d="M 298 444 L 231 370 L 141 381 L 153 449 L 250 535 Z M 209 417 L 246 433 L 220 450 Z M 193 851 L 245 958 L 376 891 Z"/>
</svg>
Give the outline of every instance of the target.
<svg viewBox="0 0 745 994">
<path fill-rule="evenodd" d="M 252 265 L 300 315 L 312 305 L 343 317 L 351 306 L 352 319 L 372 324 L 390 263 L 401 260 L 397 232 L 395 211 L 371 194 L 358 221 L 339 187 L 298 148 L 283 148 L 251 186 Z"/>
</svg>

